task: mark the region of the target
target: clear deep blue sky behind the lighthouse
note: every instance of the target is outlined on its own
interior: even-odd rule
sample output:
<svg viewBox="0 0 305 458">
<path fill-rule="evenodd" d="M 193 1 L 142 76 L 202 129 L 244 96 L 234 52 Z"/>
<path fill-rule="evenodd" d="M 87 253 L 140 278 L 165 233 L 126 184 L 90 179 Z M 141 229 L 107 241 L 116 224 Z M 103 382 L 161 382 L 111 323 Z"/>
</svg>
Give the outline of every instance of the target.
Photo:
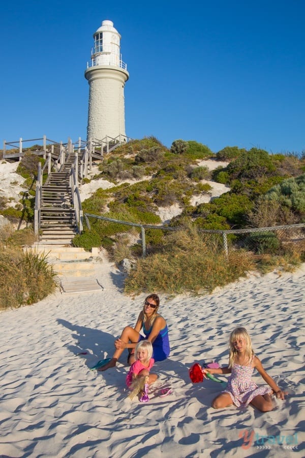
<svg viewBox="0 0 305 458">
<path fill-rule="evenodd" d="M 85 139 L 93 34 L 109 19 L 130 79 L 126 133 L 217 152 L 305 150 L 305 2 L 24 2 L 2 7 L 0 140 Z M 2 148 L 2 146 L 1 146 Z"/>
</svg>

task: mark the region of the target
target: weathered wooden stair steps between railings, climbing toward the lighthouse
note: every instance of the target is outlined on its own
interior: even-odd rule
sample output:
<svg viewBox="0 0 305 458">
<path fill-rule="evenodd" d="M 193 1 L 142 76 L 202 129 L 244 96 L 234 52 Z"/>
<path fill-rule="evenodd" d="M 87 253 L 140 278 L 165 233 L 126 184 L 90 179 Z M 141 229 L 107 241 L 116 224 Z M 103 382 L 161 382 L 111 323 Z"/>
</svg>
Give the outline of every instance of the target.
<svg viewBox="0 0 305 458">
<path fill-rule="evenodd" d="M 41 190 L 40 243 L 71 245 L 78 232 L 70 187 L 70 170 L 75 153 L 70 153 L 58 173 L 49 174 Z"/>
</svg>

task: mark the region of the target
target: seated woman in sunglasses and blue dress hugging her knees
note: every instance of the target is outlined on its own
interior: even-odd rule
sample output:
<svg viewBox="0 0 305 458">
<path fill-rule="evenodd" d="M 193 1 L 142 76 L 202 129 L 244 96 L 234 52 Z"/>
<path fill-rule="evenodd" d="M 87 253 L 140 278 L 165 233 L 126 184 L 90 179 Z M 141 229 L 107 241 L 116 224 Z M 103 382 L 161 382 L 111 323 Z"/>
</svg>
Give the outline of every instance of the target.
<svg viewBox="0 0 305 458">
<path fill-rule="evenodd" d="M 115 340 L 116 348 L 112 359 L 98 370 L 104 371 L 109 367 L 115 367 L 116 361 L 127 348 L 129 356 L 127 362 L 135 362 L 134 349 L 140 340 L 147 339 L 153 345 L 153 358 L 155 361 L 163 361 L 169 355 L 169 339 L 166 321 L 158 313 L 160 299 L 157 294 L 149 294 L 144 301 L 143 310 L 140 312 L 134 328 L 124 328 L 119 339 Z M 140 334 L 141 329 L 145 337 Z"/>
</svg>

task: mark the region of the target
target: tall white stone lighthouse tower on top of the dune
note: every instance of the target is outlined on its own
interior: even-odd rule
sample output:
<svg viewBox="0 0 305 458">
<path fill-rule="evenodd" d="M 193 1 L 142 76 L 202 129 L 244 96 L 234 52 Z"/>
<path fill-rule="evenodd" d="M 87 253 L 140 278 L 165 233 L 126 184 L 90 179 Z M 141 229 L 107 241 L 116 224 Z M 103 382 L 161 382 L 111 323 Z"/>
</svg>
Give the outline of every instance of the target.
<svg viewBox="0 0 305 458">
<path fill-rule="evenodd" d="M 89 83 L 87 139 L 123 141 L 125 133 L 124 87 L 129 78 L 120 54 L 121 36 L 112 21 L 103 21 L 93 35 Z M 110 137 L 110 138 L 109 138 Z"/>
</svg>

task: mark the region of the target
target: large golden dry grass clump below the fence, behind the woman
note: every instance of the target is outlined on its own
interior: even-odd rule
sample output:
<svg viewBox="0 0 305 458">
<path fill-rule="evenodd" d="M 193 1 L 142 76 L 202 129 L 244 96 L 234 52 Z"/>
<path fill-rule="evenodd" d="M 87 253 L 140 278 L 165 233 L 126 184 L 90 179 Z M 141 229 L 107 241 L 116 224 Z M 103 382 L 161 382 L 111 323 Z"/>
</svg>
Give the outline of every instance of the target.
<svg viewBox="0 0 305 458">
<path fill-rule="evenodd" d="M 251 254 L 238 250 L 226 258 L 217 242 L 188 227 L 168 236 L 164 251 L 139 260 L 126 279 L 127 293 L 211 292 L 254 269 Z"/>
</svg>

